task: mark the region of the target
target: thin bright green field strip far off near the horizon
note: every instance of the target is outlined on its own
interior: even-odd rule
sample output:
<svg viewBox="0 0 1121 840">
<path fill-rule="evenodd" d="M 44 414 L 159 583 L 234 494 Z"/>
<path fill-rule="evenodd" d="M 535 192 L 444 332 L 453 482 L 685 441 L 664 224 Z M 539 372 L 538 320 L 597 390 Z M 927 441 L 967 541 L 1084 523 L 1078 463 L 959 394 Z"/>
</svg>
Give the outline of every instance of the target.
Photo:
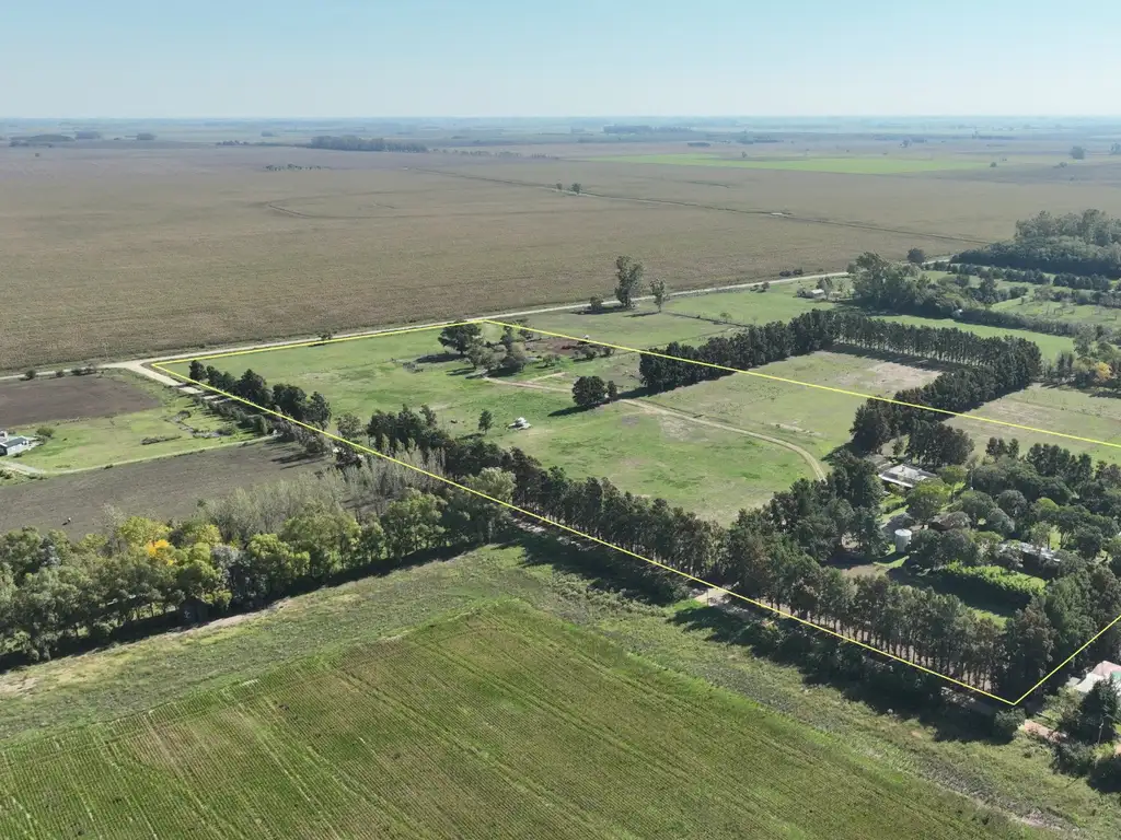
<svg viewBox="0 0 1121 840">
<path fill-rule="evenodd" d="M 971 158 L 933 158 L 915 155 L 867 157 L 781 157 L 728 158 L 717 155 L 617 155 L 589 158 L 618 164 L 658 164 L 668 166 L 715 166 L 734 169 L 782 169 L 800 172 L 843 172 L 847 175 L 900 175 L 933 172 L 946 169 L 981 169 L 990 160 Z"/>
</svg>

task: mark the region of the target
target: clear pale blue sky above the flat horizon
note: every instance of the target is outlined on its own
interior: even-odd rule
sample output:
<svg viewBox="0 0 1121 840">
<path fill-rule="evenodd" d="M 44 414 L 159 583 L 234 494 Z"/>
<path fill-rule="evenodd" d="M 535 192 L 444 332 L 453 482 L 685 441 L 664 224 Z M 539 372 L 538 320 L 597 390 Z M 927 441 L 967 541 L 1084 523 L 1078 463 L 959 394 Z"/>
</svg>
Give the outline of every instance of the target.
<svg viewBox="0 0 1121 840">
<path fill-rule="evenodd" d="M 0 115 L 1117 114 L 1115 0 L 2 0 Z"/>
</svg>

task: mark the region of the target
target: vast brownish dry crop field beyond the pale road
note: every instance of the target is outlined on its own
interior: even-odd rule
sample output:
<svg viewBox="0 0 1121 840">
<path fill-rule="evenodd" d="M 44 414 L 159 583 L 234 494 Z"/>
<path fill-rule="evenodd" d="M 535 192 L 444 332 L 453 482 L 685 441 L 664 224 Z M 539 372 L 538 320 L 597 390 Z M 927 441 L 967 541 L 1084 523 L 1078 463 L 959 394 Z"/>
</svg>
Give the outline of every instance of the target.
<svg viewBox="0 0 1121 840">
<path fill-rule="evenodd" d="M 20 300 L 0 312 L 8 370 L 569 301 L 609 292 L 620 253 L 684 289 L 836 269 L 864 250 L 944 253 L 1045 206 L 1121 211 L 1104 181 L 305 149 L 40 155 L 0 149 L 0 248 Z M 263 169 L 287 162 L 331 168 Z M 556 181 L 596 195 L 546 188 Z"/>
</svg>

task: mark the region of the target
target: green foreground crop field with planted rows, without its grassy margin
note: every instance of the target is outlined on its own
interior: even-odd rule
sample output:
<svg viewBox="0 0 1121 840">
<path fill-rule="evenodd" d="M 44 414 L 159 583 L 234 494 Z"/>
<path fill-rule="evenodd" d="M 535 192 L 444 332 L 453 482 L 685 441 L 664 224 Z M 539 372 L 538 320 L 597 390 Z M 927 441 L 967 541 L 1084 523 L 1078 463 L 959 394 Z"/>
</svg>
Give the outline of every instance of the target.
<svg viewBox="0 0 1121 840">
<path fill-rule="evenodd" d="M 0 787 L 50 840 L 1023 834 L 515 604 L 10 747 Z"/>
</svg>

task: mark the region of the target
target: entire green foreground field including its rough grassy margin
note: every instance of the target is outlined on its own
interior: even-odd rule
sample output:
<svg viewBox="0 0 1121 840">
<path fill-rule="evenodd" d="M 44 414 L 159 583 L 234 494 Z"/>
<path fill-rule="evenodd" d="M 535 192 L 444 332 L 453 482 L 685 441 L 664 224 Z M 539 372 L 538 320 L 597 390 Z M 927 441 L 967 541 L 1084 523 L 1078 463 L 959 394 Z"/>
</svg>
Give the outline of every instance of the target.
<svg viewBox="0 0 1121 840">
<path fill-rule="evenodd" d="M 531 764 L 518 777 L 535 783 L 528 790 L 540 790 L 538 774 L 578 768 L 580 774 L 550 775 L 547 786 L 553 795 L 565 797 L 566 806 L 559 810 L 582 814 L 589 802 L 612 801 L 602 792 L 622 790 L 618 784 L 623 784 L 628 795 L 642 803 L 632 809 L 638 815 L 631 819 L 641 821 L 634 824 L 645 827 L 637 836 L 689 837 L 697 830 L 688 822 L 659 822 L 670 819 L 667 809 L 646 799 L 660 792 L 679 809 L 678 797 L 701 795 L 689 780 L 668 782 L 676 788 L 668 790 L 656 775 L 678 764 L 694 767 L 691 762 L 696 760 L 716 774 L 695 769 L 702 774 L 697 778 L 716 791 L 710 810 L 726 813 L 721 800 L 759 809 L 757 815 L 733 821 L 730 828 L 700 827 L 713 836 L 725 831 L 758 836 L 745 825 L 760 827 L 759 833 L 786 830 L 794 837 L 816 837 L 822 831 L 969 837 L 981 831 L 972 803 L 924 780 L 967 792 L 1037 824 L 1064 831 L 1077 825 L 1087 838 L 1111 838 L 1121 831 L 1121 812 L 1082 781 L 1053 774 L 1048 750 L 1035 741 L 1019 737 L 994 746 L 955 736 L 953 729 L 877 713 L 837 690 L 804 682 L 796 669 L 752 655 L 734 641 L 713 641 L 719 626 L 712 622 L 713 609 L 693 601 L 643 606 L 589 589 L 582 578 L 550 564 L 566 551 L 538 540 L 525 548 L 482 549 L 317 590 L 243 620 L 0 675 L 4 697 L 0 738 L 6 741 L 0 785 L 38 821 L 24 816 L 22 833 L 9 830 L 3 836 L 66 837 L 52 833 L 66 818 L 68 827 L 85 829 L 85 837 L 101 837 L 99 831 L 91 833 L 90 827 L 98 823 L 91 823 L 83 805 L 93 802 L 94 820 L 130 805 L 133 815 L 146 814 L 161 825 L 168 820 L 169 828 L 159 837 L 177 837 L 172 821 L 187 819 L 197 804 L 180 799 L 184 780 L 197 780 L 202 802 L 197 810 L 221 814 L 222 820 L 245 819 L 241 809 L 261 815 L 269 827 L 279 825 L 295 808 L 308 819 L 319 812 L 343 820 L 352 808 L 370 808 L 370 800 L 383 793 L 381 785 L 389 784 L 386 776 L 420 772 L 417 744 L 432 750 L 428 775 L 416 777 L 409 795 L 391 801 L 398 808 L 402 801 L 404 806 L 430 805 L 437 794 L 447 792 L 443 786 L 447 774 L 461 773 L 458 790 L 472 793 L 473 785 L 493 780 L 497 757 L 510 749 L 502 740 L 507 731 L 526 736 L 518 744 Z M 508 618 L 502 613 L 506 607 L 480 615 L 499 615 L 512 634 L 495 634 L 474 617 L 465 619 L 467 624 L 458 619 L 401 635 L 433 619 L 485 608 L 500 596 L 516 597 L 594 636 L 532 615 L 522 619 L 524 610 Z M 464 634 L 456 635 L 465 627 L 475 640 L 466 648 Z M 350 653 L 354 645 L 360 647 Z M 643 659 L 626 656 L 623 650 Z M 739 698 L 674 673 L 655 673 L 647 662 Z M 465 665 L 471 671 L 464 672 Z M 501 680 L 493 679 L 495 670 Z M 473 693 L 465 697 L 469 691 Z M 168 702 L 173 704 L 152 715 L 129 717 Z M 406 704 L 415 711 L 406 712 Z M 781 709 L 782 717 L 765 707 Z M 595 720 L 589 722 L 609 708 L 614 716 L 610 725 L 596 729 Z M 549 717 L 543 718 L 545 712 Z M 617 717 L 630 720 L 617 727 Z M 582 725 L 589 728 L 581 730 Z M 84 728 L 68 731 L 75 726 Z M 390 727 L 395 731 L 387 731 Z M 446 752 L 450 732 L 460 738 L 460 749 L 452 753 Z M 113 736 L 119 739 L 113 741 Z M 402 744 L 407 736 L 409 741 Z M 595 738 L 591 759 L 581 752 L 589 737 Z M 621 741 L 633 749 L 620 755 Z M 674 760 L 667 763 L 657 749 L 670 746 Z M 154 753 L 154 747 L 169 752 Z M 319 760 L 321 749 L 332 760 Z M 776 755 L 782 756 L 778 764 Z M 651 756 L 659 760 L 643 776 L 636 767 L 650 764 Z M 632 760 L 636 764 L 629 764 Z M 739 769 L 725 771 L 729 760 Z M 182 767 L 182 775 L 168 769 L 169 762 Z M 576 780 L 586 774 L 599 785 L 599 795 L 578 786 Z M 354 783 L 352 795 L 341 795 L 339 781 L 351 778 L 362 782 Z M 865 787 L 870 780 L 874 790 Z M 308 803 L 294 787 L 297 781 L 314 781 L 323 790 L 305 785 L 304 792 L 313 797 Z M 643 781 L 651 790 L 631 788 Z M 215 793 L 223 785 L 225 796 Z M 797 814 L 786 810 L 791 794 L 800 800 Z M 907 803 L 891 805 L 897 795 L 909 797 L 910 805 L 918 803 L 918 810 Z M 525 823 L 515 822 L 526 818 L 507 816 L 506 811 L 516 801 L 525 814 L 538 813 L 541 800 L 526 796 L 524 787 L 491 805 L 508 824 L 522 829 L 520 836 L 532 833 L 522 828 Z M 771 804 L 760 804 L 760 796 Z M 855 796 L 862 803 L 854 806 L 859 813 L 849 812 L 849 804 L 839 806 L 839 796 L 845 802 Z M 114 797 L 123 801 L 113 802 Z M 233 803 L 229 809 L 226 801 Z M 8 802 L 11 805 L 12 800 Z M 469 819 L 460 813 L 456 797 L 447 804 L 460 814 L 455 819 Z M 822 814 L 823 808 L 840 808 L 845 822 L 833 824 Z M 936 809 L 941 823 L 932 821 Z M 12 805 L 0 811 L 0 820 L 12 819 L 13 810 Z M 704 809 L 686 808 L 676 814 L 686 821 L 706 819 L 697 810 Z M 611 819 L 609 810 L 595 813 L 595 819 Z M 1002 816 L 981 819 L 995 836 L 1015 833 Z M 211 829 L 235 836 L 215 820 L 192 822 L 191 828 L 201 832 L 194 836 L 211 836 L 205 833 Z M 306 824 L 307 831 L 319 832 L 314 836 L 324 834 L 322 822 Z M 343 836 L 361 836 L 346 833 L 353 824 L 345 823 Z M 466 834 L 475 828 L 457 823 L 444 830 Z M 285 831 L 274 836 L 288 836 Z M 139 833 L 152 832 L 142 823 L 124 822 L 115 836 Z M 587 828 L 583 836 L 619 834 Z"/>
</svg>

